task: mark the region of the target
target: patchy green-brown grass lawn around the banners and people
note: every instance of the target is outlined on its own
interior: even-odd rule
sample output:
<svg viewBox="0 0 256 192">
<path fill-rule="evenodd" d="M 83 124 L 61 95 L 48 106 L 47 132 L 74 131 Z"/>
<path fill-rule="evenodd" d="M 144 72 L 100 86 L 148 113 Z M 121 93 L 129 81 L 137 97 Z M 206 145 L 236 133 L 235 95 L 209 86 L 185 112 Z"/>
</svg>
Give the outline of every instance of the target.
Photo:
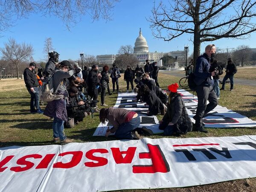
<svg viewBox="0 0 256 192">
<path fill-rule="evenodd" d="M 254 78 L 256 68 L 241 69 L 236 74 L 238 78 L 240 71 L 247 74 L 247 78 Z M 249 73 L 253 71 L 253 73 Z M 243 74 L 244 75 L 244 74 Z M 242 78 L 242 77 L 241 77 Z M 243 77 L 244 78 L 244 77 Z M 170 76 L 164 73 L 159 74 L 159 84 L 166 89 L 169 84 L 179 81 L 179 77 Z M 227 84 L 227 89 L 230 84 Z M 111 85 L 112 87 L 112 85 Z M 121 91 L 126 90 L 126 82 L 122 77 L 119 79 Z M 2 79 L 0 80 L 0 147 L 10 145 L 50 145 L 52 140 L 52 120 L 42 114 L 29 113 L 30 95 L 26 90 L 25 83 L 21 79 Z M 105 102 L 108 106 L 116 103 L 117 93 L 106 96 Z M 98 97 L 100 100 L 100 96 Z M 221 91 L 219 104 L 236 111 L 250 119 L 256 120 L 256 89 L 255 87 L 242 86 L 235 84 L 235 89 L 230 92 Z M 46 105 L 46 104 L 45 104 Z M 45 105 L 41 105 L 44 110 Z M 99 108 L 101 108 L 99 106 Z M 158 116 L 161 119 L 162 116 Z M 67 137 L 73 138 L 76 142 L 92 142 L 115 140 L 115 138 L 92 137 L 96 127 L 99 125 L 99 115 L 94 114 L 84 118 L 74 128 L 66 128 Z M 255 135 L 256 128 L 230 128 L 230 129 L 208 129 L 209 133 L 190 132 L 181 138 L 186 137 L 222 137 L 222 136 L 241 136 Z M 150 138 L 163 138 L 163 134 L 157 134 Z M 170 136 L 169 138 L 176 138 Z M 177 189 L 157 189 L 153 191 L 176 191 Z M 256 179 L 236 180 L 222 183 L 215 183 L 205 186 L 195 186 L 181 188 L 179 191 L 256 191 Z M 128 190 L 132 191 L 132 190 Z M 133 190 L 134 191 L 134 190 Z M 143 190 L 135 190 L 143 191 Z M 145 191 L 145 190 L 144 190 Z"/>
</svg>

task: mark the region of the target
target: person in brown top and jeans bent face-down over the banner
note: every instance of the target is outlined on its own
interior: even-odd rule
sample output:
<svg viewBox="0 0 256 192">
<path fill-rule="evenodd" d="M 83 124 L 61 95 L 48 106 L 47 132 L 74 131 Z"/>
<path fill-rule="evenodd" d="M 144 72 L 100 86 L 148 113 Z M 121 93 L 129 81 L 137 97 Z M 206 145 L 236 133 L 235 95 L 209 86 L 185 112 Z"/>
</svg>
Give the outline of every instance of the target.
<svg viewBox="0 0 256 192">
<path fill-rule="evenodd" d="M 140 134 L 134 130 L 140 125 L 140 117 L 134 111 L 113 107 L 102 108 L 99 111 L 99 120 L 102 123 L 108 121 L 113 125 L 113 128 L 108 128 L 106 137 L 115 133 L 118 139 L 140 139 Z"/>
</svg>

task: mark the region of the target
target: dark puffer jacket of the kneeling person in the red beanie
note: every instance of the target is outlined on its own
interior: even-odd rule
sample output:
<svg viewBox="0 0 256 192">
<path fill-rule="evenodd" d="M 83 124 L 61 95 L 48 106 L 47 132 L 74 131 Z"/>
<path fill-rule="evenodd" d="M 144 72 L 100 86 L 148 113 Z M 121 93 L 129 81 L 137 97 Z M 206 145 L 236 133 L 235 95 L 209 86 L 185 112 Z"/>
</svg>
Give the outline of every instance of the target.
<svg viewBox="0 0 256 192">
<path fill-rule="evenodd" d="M 192 131 L 192 122 L 180 94 L 174 93 L 172 97 L 169 96 L 168 100 L 167 112 L 163 116 L 163 121 L 172 122 L 175 125 L 176 133 L 186 134 L 188 131 Z"/>
</svg>

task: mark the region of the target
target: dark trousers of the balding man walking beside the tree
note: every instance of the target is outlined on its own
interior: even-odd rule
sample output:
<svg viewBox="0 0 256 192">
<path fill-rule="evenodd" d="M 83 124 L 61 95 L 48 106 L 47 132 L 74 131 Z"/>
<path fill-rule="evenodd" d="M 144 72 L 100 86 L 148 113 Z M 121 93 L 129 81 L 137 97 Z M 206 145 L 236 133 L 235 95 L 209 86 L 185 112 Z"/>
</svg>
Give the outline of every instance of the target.
<svg viewBox="0 0 256 192">
<path fill-rule="evenodd" d="M 210 90 L 212 90 L 210 88 Z M 195 88 L 195 92 L 198 96 L 198 106 L 196 114 L 193 117 L 195 119 L 195 126 L 202 127 L 202 118 L 204 115 L 212 111 L 218 105 L 218 99 L 214 91 L 209 92 L 208 87 L 202 85 Z M 207 105 L 207 100 L 209 104 Z"/>
</svg>

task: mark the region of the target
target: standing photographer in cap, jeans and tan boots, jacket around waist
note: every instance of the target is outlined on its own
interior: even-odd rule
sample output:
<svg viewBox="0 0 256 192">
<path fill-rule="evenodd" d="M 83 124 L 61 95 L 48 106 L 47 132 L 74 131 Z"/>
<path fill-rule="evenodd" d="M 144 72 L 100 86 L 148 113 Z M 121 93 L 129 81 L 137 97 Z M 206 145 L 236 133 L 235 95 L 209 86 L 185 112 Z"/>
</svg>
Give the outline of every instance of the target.
<svg viewBox="0 0 256 192">
<path fill-rule="evenodd" d="M 72 143 L 74 140 L 69 139 L 64 134 L 64 122 L 67 122 L 67 109 L 66 109 L 66 97 L 67 85 L 69 81 L 67 78 L 73 76 L 74 70 L 71 68 L 69 61 L 64 60 L 59 63 L 59 68 L 55 68 L 52 75 L 53 90 L 58 97 L 53 101 L 47 103 L 44 110 L 44 115 L 52 117 L 52 129 L 53 129 L 53 142 L 60 141 L 61 145 Z"/>
</svg>

